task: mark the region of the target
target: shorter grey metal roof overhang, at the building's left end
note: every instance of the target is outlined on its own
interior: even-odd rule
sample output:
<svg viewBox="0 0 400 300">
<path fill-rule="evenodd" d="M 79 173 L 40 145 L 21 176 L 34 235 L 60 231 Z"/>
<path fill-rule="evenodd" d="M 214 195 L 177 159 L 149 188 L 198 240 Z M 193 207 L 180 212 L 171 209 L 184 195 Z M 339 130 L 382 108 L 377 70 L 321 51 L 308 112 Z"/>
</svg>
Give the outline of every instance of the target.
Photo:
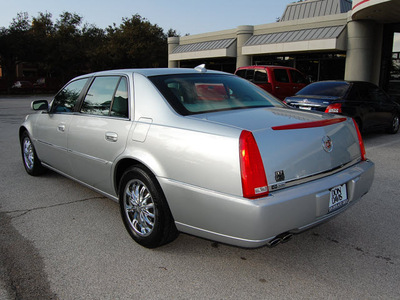
<svg viewBox="0 0 400 300">
<path fill-rule="evenodd" d="M 169 60 L 189 60 L 213 57 L 236 57 L 236 38 L 206 41 L 177 46 Z"/>
</svg>

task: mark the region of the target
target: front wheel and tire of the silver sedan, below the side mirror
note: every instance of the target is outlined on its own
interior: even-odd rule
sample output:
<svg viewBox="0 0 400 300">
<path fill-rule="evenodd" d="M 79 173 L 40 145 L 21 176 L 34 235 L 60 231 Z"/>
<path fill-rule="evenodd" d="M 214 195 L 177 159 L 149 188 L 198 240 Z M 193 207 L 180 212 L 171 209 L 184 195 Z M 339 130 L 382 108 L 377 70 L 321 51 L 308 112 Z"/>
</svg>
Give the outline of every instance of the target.
<svg viewBox="0 0 400 300">
<path fill-rule="evenodd" d="M 38 176 L 46 171 L 42 162 L 38 158 L 32 140 L 26 131 L 21 135 L 21 154 L 25 170 L 29 175 Z"/>
</svg>

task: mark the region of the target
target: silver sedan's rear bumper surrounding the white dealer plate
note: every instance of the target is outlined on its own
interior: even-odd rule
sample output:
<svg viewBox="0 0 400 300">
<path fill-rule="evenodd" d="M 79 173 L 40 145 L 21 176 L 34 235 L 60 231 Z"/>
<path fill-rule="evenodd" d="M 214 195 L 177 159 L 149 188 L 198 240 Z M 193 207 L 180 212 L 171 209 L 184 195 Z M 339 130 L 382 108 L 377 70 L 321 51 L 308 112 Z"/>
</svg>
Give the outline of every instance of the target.
<svg viewBox="0 0 400 300">
<path fill-rule="evenodd" d="M 203 238 L 255 248 L 277 235 L 298 233 L 340 214 L 363 195 L 374 178 L 367 160 L 333 175 L 248 200 L 158 178 L 179 231 Z M 345 184 L 349 202 L 328 213 L 330 189 Z"/>
</svg>

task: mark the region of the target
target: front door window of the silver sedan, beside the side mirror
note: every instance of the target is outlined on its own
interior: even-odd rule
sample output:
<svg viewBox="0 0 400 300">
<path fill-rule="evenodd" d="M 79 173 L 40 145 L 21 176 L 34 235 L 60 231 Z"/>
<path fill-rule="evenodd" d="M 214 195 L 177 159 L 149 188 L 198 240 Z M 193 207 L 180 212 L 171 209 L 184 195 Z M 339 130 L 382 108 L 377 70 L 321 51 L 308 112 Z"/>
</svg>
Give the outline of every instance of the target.
<svg viewBox="0 0 400 300">
<path fill-rule="evenodd" d="M 65 86 L 53 100 L 51 112 L 53 113 L 67 113 L 72 112 L 78 101 L 82 89 L 85 87 L 88 78 L 75 80 Z"/>
</svg>

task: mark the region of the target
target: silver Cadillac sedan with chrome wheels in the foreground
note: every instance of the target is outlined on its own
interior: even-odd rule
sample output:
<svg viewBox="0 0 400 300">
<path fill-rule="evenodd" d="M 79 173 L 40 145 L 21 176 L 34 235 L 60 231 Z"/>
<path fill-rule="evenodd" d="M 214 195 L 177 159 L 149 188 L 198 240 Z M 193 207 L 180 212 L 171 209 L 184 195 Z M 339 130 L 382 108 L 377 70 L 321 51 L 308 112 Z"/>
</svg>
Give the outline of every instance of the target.
<svg viewBox="0 0 400 300">
<path fill-rule="evenodd" d="M 32 108 L 19 130 L 27 173 L 118 201 L 148 248 L 179 232 L 274 246 L 343 212 L 374 177 L 353 119 L 289 108 L 204 66 L 88 74 Z"/>
</svg>

